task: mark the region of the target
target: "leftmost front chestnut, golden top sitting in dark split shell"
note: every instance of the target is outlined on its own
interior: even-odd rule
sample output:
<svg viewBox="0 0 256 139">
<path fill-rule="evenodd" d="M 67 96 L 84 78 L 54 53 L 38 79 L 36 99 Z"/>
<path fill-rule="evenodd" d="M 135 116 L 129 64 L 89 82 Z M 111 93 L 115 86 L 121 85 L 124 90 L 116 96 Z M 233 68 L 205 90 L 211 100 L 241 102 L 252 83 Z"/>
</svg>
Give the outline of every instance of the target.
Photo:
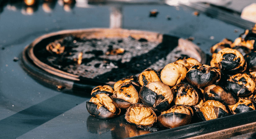
<svg viewBox="0 0 256 139">
<path fill-rule="evenodd" d="M 120 109 L 116 108 L 112 99 L 104 93 L 92 97 L 86 102 L 86 108 L 92 116 L 100 119 L 109 119 L 120 114 Z"/>
</svg>

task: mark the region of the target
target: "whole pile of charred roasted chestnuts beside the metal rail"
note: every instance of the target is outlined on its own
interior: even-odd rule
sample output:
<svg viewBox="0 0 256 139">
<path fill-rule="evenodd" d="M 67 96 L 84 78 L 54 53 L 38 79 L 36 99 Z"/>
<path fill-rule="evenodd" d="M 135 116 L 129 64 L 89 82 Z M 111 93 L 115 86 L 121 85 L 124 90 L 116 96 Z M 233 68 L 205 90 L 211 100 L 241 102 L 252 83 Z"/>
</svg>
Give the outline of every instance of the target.
<svg viewBox="0 0 256 139">
<path fill-rule="evenodd" d="M 175 128 L 255 110 L 256 25 L 234 42 L 224 39 L 211 48 L 210 65 L 181 57 L 163 69 L 146 69 L 124 77 L 113 88 L 97 86 L 88 112 L 109 119 L 125 111 L 138 128 Z"/>
</svg>

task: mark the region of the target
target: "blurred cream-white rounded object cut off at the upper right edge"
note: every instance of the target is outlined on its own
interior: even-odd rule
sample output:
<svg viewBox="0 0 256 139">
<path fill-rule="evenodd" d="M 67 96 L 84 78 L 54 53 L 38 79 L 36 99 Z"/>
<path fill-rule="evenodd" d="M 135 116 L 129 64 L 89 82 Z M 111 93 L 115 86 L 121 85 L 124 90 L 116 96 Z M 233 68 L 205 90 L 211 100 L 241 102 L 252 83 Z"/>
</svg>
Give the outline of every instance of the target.
<svg viewBox="0 0 256 139">
<path fill-rule="evenodd" d="M 241 18 L 256 23 L 256 3 L 246 6 L 241 13 Z"/>
</svg>

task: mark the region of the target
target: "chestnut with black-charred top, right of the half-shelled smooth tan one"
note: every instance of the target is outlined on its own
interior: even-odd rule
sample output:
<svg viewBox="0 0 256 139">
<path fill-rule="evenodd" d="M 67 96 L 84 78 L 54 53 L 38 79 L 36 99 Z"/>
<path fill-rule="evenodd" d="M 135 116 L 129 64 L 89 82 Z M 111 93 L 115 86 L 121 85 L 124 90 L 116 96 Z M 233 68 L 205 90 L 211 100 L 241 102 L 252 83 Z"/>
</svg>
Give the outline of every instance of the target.
<svg viewBox="0 0 256 139">
<path fill-rule="evenodd" d="M 173 102 L 176 105 L 194 106 L 198 103 L 199 93 L 193 86 L 186 82 L 180 82 L 171 88 L 173 92 Z"/>
</svg>

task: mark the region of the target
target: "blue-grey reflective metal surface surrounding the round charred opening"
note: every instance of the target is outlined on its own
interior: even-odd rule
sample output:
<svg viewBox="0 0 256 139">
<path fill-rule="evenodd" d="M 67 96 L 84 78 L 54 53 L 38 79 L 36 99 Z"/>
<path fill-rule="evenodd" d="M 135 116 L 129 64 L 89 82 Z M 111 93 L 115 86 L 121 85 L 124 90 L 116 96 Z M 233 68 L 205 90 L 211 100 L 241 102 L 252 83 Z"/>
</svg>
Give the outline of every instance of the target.
<svg viewBox="0 0 256 139">
<path fill-rule="evenodd" d="M 86 110 L 89 93 L 54 91 L 27 75 L 20 54 L 43 34 L 110 27 L 116 6 L 122 11 L 122 28 L 193 37 L 205 53 L 223 38 L 235 40 L 244 32 L 244 28 L 204 14 L 195 16 L 193 10 L 164 4 L 40 1 L 29 7 L 21 1 L 0 2 L 0 138 L 128 138 L 149 133 L 128 124 L 124 114 L 111 120 L 90 116 Z M 150 17 L 151 10 L 159 14 Z"/>
</svg>

